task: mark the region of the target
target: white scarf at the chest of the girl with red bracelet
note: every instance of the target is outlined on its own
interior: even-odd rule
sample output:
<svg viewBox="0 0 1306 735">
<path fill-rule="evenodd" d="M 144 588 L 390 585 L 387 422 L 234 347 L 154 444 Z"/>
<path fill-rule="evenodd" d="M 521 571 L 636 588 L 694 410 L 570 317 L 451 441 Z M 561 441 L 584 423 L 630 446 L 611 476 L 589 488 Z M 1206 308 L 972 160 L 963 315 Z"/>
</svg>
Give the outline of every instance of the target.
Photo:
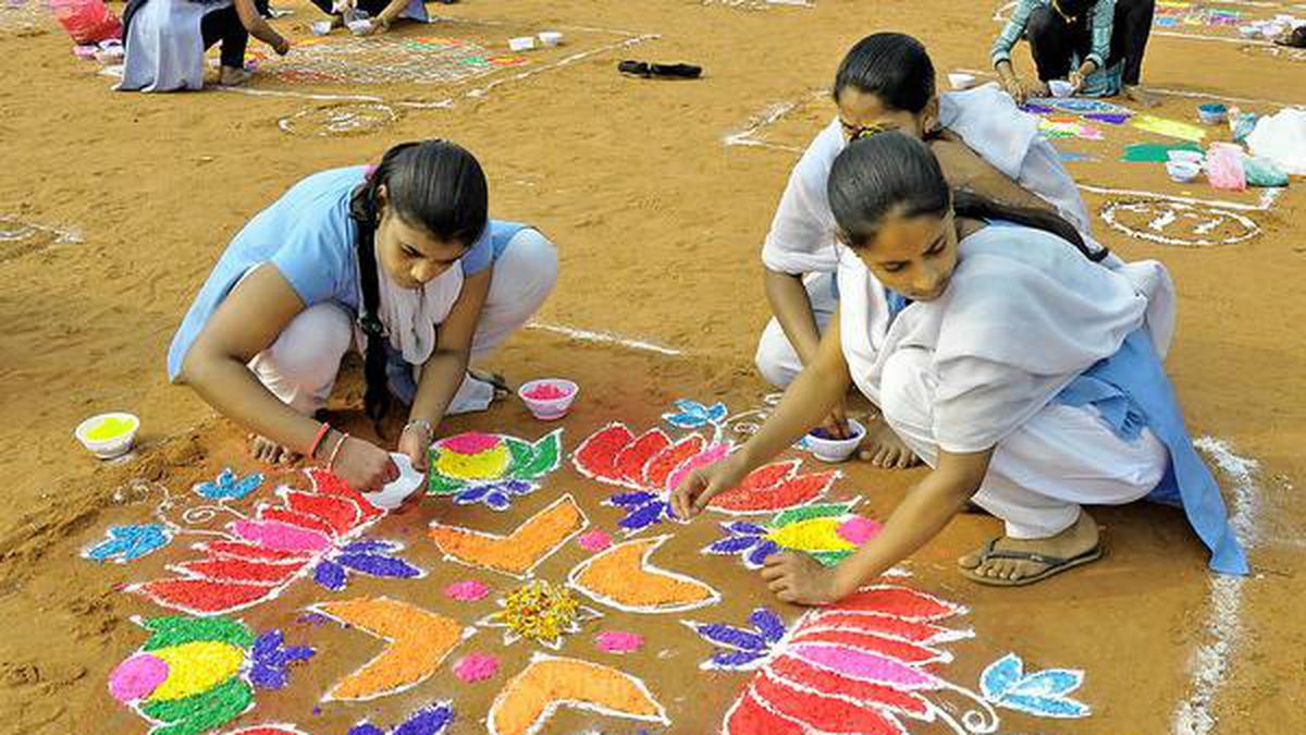
<svg viewBox="0 0 1306 735">
<path fill-rule="evenodd" d="M 377 316 L 390 347 L 397 349 L 404 361 L 422 365 L 431 357 L 436 344 L 436 326 L 449 316 L 449 310 L 462 293 L 462 263 L 454 262 L 449 268 L 427 281 L 421 288 L 406 289 L 396 284 L 380 259 L 376 262 L 377 284 L 381 303 Z M 362 303 L 359 293 L 359 303 Z M 354 328 L 359 349 L 367 350 L 367 335 L 360 326 Z"/>
</svg>

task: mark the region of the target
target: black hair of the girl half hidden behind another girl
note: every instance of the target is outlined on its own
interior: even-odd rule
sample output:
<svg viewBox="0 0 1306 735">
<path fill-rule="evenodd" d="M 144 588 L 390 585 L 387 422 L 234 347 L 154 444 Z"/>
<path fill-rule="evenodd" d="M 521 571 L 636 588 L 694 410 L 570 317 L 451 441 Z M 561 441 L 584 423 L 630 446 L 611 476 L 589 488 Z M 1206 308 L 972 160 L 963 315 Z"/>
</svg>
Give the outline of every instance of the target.
<svg viewBox="0 0 1306 735">
<path fill-rule="evenodd" d="M 831 90 L 835 102 L 848 88 L 917 115 L 934 99 L 934 61 L 925 44 L 905 33 L 874 33 L 849 48 L 838 64 Z"/>
</svg>

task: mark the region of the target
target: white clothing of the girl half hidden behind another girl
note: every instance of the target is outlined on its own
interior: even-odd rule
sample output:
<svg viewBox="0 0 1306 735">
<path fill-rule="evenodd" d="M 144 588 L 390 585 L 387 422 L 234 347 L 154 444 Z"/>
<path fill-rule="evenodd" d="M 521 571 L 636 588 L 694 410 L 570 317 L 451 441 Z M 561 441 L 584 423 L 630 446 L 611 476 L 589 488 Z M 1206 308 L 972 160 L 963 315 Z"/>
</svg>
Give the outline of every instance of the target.
<svg viewBox="0 0 1306 735">
<path fill-rule="evenodd" d="M 996 85 L 940 94 L 939 123 L 959 135 L 995 169 L 1054 205 L 1091 248 L 1100 247 L 1093 241 L 1092 220 L 1075 179 L 1066 171 L 1057 149 L 1038 133 L 1038 118 L 1021 112 Z M 814 281 L 820 279 L 811 275 L 833 273 L 838 265 L 840 247 L 835 239 L 835 214 L 829 209 L 827 183 L 831 166 L 845 145 L 837 119 L 812 140 L 789 175 L 761 248 L 761 260 L 768 269 L 808 275 L 804 282 L 815 297 L 812 307 L 821 332 L 833 306 L 818 303 L 824 293 L 819 284 L 812 288 Z M 778 387 L 789 385 L 803 368 L 777 319 L 772 319 L 763 331 L 755 361 L 767 382 Z"/>
</svg>

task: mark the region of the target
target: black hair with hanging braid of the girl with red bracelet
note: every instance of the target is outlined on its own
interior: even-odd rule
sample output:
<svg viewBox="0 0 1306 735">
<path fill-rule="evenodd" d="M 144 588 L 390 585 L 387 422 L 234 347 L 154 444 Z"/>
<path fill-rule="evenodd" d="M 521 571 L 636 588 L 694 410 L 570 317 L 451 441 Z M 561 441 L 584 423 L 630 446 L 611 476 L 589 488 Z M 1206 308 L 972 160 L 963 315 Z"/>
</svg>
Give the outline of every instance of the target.
<svg viewBox="0 0 1306 735">
<path fill-rule="evenodd" d="M 471 247 L 490 221 L 490 187 L 475 156 L 447 140 L 401 143 L 385 152 L 350 200 L 349 216 L 358 225 L 358 268 L 363 284 L 359 318 L 367 335 L 363 408 L 374 421 L 385 417 L 390 392 L 385 378 L 385 339 L 376 272 L 376 228 L 380 224 L 380 188 L 392 216 L 422 228 L 443 242 Z M 453 265 L 454 268 L 457 265 Z"/>
</svg>

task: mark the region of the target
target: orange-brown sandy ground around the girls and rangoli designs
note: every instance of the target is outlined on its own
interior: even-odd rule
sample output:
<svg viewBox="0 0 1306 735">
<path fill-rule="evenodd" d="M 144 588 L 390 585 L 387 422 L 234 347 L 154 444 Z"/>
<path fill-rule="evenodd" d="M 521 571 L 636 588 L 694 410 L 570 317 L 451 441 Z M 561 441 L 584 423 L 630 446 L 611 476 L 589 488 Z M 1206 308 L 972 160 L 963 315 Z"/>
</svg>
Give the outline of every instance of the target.
<svg viewBox="0 0 1306 735">
<path fill-rule="evenodd" d="M 495 368 L 515 381 L 560 374 L 584 386 L 577 411 L 564 422 L 568 450 L 611 420 L 652 426 L 675 398 L 720 399 L 744 409 L 765 392 L 751 366 L 767 316 L 759 243 L 795 160 L 791 148 L 802 146 L 832 112 L 812 92 L 829 82 L 844 50 L 874 30 L 918 35 L 940 72 L 982 68 L 996 25 L 991 8 L 981 5 L 818 0 L 810 8 L 754 9 L 695 1 L 559 7 L 473 0 L 432 5 L 458 22 L 400 34 L 502 48 L 518 30 L 562 27 L 575 29 L 568 30 L 571 43 L 457 84 L 290 84 L 269 71 L 252 89 L 289 95 L 210 90 L 158 97 L 111 93 L 111 80 L 97 76 L 94 63 L 72 58 L 67 37 L 50 21 L 0 10 L 0 73 L 7 80 L 0 95 L 0 234 L 7 234 L 0 238 L 0 466 L 9 498 L 0 521 L 0 615 L 9 626 L 0 643 L 0 730 L 148 728 L 107 694 L 106 677 L 146 637 L 131 617 L 161 611 L 119 590 L 158 577 L 165 564 L 191 552 L 176 541 L 121 566 L 84 561 L 77 552 L 110 524 L 149 519 L 158 496 L 131 492 L 135 480 L 182 497 L 225 466 L 255 470 L 239 428 L 167 385 L 163 356 L 229 237 L 287 186 L 311 171 L 374 158 L 400 140 L 457 139 L 487 169 L 492 211 L 530 221 L 560 245 L 562 280 L 539 323 L 680 353 L 592 344 L 547 330 L 516 336 L 494 358 Z M 310 38 L 312 9 L 307 3 L 289 7 L 294 16 L 278 26 L 295 39 Z M 657 37 L 645 38 L 650 34 Z M 264 51 L 257 42 L 251 47 Z M 626 78 L 614 69 L 623 58 L 688 60 L 703 64 L 707 76 L 695 82 Z M 1241 98 L 1262 112 L 1276 103 L 1306 103 L 1303 80 L 1299 60 L 1271 56 L 1263 47 L 1157 35 L 1144 81 L 1170 90 L 1157 114 L 1190 119 L 1194 105 L 1207 98 Z M 296 95 L 304 93 L 362 95 L 351 102 L 388 105 L 397 119 L 353 136 L 287 135 L 278 120 L 299 112 L 304 115 L 296 120 L 329 116 L 321 110 L 342 102 Z M 780 103 L 795 107 L 757 127 Z M 741 131 L 767 145 L 724 143 Z M 974 689 L 980 671 L 1007 651 L 1019 653 L 1030 668 L 1085 671 L 1075 697 L 1092 705 L 1092 717 L 1049 721 L 999 710 L 1002 731 L 1294 732 L 1306 706 L 1299 613 L 1306 517 L 1294 502 L 1294 488 L 1306 481 L 1306 246 L 1292 226 L 1306 214 L 1302 182 L 1296 179 L 1268 204 L 1256 195 L 1222 197 L 1204 183 L 1181 188 L 1158 178 L 1155 166 L 1111 163 L 1123 143 L 1164 139 L 1107 133 L 1102 143 L 1064 145 L 1098 157 L 1071 165 L 1081 182 L 1098 187 L 1085 192 L 1094 212 L 1139 199 L 1102 190 L 1187 192 L 1234 201 L 1243 207 L 1235 212 L 1252 222 L 1251 229 L 1218 225 L 1216 231 L 1250 234 L 1224 247 L 1175 247 L 1130 237 L 1104 221 L 1096 226 L 1126 258 L 1164 260 L 1178 282 L 1170 374 L 1194 436 L 1228 442 L 1237 456 L 1256 463 L 1241 480 L 1221 476 L 1255 574 L 1213 579 L 1178 513 L 1126 507 L 1098 514 L 1110 555 L 1083 572 L 1028 590 L 969 585 L 953 573 L 952 558 L 998 526 L 991 518 L 964 517 L 906 565 L 909 585 L 970 609 L 949 625 L 970 628 L 974 637 L 949 643 L 955 660 L 940 667 L 960 687 Z M 1136 229 L 1145 229 L 1151 212 Z M 357 416 L 357 368 L 338 392 L 343 420 L 366 432 Z M 127 462 L 103 466 L 76 445 L 72 428 L 90 413 L 119 408 L 142 417 L 141 447 Z M 447 430 L 473 428 L 529 438 L 546 429 L 512 403 L 452 420 Z M 1225 464 L 1237 470 L 1229 456 Z M 861 510 L 883 517 L 916 477 L 848 466 L 835 493 L 865 493 Z M 276 481 L 300 483 L 274 476 L 268 487 Z M 423 536 L 427 523 L 505 532 L 562 490 L 572 492 L 598 527 L 613 528 L 620 517 L 601 505 L 610 488 L 567 466 L 507 515 L 427 501 L 384 519 L 372 534 L 405 540 L 407 558 L 430 575 L 421 582 L 360 579 L 336 596 L 398 596 L 470 624 L 492 608 L 492 598 L 456 608 L 440 596 L 443 582 L 469 573 L 440 561 Z M 696 555 L 714 538 L 708 524 L 687 527 L 657 561 L 722 591 L 725 603 L 695 611 L 696 619 L 738 623 L 752 607 L 772 603 L 741 566 Z M 560 579 L 584 556 L 568 547 L 539 575 Z M 479 578 L 496 592 L 513 586 L 505 578 Z M 308 732 L 343 732 L 363 717 L 393 725 L 417 706 L 453 698 L 460 711 L 454 731 L 473 732 L 483 728 L 479 721 L 504 676 L 526 659 L 522 643 L 500 650 L 491 633 L 481 633 L 473 647 L 504 658 L 498 679 L 464 685 L 445 667 L 404 694 L 323 705 L 315 713 L 328 685 L 377 650 L 374 638 L 336 626 L 296 626 L 302 607 L 328 598 L 300 582 L 277 602 L 238 615 L 257 629 L 283 628 L 319 655 L 293 672 L 287 689 L 260 694 L 256 710 L 231 727 L 294 722 Z M 788 620 L 799 613 L 776 607 Z M 605 623 L 648 636 L 641 653 L 596 654 L 588 634 L 564 653 L 644 677 L 667 708 L 670 731 L 714 731 L 747 676 L 700 674 L 696 663 L 710 647 L 677 617 L 610 612 Z M 658 651 L 670 653 L 662 658 Z M 640 725 L 564 711 L 545 731 L 581 727 L 629 732 Z M 944 731 L 921 723 L 909 728 Z"/>
</svg>

